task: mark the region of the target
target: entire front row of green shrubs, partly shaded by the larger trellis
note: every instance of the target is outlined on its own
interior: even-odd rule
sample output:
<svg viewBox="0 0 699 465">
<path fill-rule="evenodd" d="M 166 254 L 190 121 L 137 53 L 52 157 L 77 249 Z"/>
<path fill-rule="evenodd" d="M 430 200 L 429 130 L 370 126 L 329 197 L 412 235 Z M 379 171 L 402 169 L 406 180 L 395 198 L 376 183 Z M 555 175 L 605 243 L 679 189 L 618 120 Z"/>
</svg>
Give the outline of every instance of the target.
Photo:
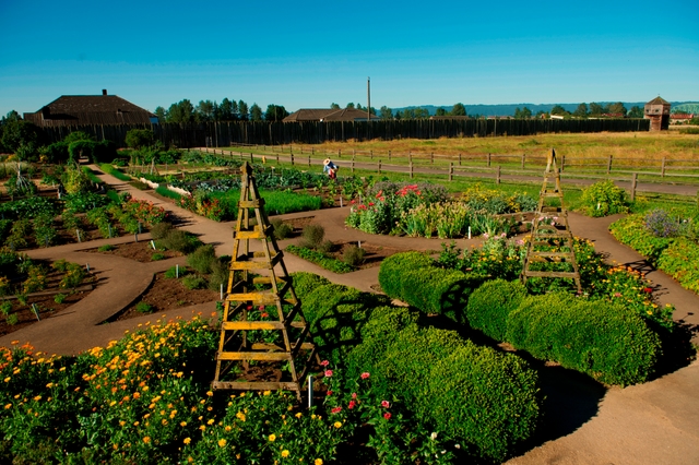
<svg viewBox="0 0 699 465">
<path fill-rule="evenodd" d="M 503 460 L 534 432 L 542 400 L 537 375 L 522 358 L 428 327 L 419 313 L 384 296 L 308 273 L 295 273 L 294 286 L 322 356 L 346 366 L 351 379 L 370 372 L 372 393 L 410 406 L 413 427 L 488 462 Z"/>
</svg>

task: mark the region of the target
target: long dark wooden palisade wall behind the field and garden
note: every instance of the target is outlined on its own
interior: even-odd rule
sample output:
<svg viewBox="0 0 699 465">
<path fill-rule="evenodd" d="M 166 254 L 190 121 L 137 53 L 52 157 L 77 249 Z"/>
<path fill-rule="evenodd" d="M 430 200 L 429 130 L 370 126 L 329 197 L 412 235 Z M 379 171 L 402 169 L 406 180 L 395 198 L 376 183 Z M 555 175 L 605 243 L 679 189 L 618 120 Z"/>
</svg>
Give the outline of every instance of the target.
<svg viewBox="0 0 699 465">
<path fill-rule="evenodd" d="M 647 119 L 459 119 L 459 120 L 381 120 L 381 121 L 217 121 L 162 124 L 85 124 L 42 128 L 49 142 L 62 140 L 73 131 L 84 131 L 98 141 L 109 140 L 126 146 L 131 129 L 152 129 L 166 146 L 232 146 L 238 144 L 321 144 L 381 139 L 438 139 L 494 135 L 535 135 L 574 132 L 648 131 Z"/>
</svg>

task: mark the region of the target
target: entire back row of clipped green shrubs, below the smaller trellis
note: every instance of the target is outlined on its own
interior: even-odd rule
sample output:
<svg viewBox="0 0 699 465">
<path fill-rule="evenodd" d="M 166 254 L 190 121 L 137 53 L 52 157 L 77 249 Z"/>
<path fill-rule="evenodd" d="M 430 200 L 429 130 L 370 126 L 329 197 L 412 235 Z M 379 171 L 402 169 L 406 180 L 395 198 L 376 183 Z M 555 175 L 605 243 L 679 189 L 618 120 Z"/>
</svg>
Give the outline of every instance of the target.
<svg viewBox="0 0 699 465">
<path fill-rule="evenodd" d="M 604 383 L 643 382 L 661 356 L 659 336 L 645 320 L 607 300 L 566 293 L 528 296 L 519 282 L 484 283 L 481 275 L 440 269 L 418 252 L 386 259 L 379 283 L 388 296 L 425 313 L 443 314 Z"/>
</svg>

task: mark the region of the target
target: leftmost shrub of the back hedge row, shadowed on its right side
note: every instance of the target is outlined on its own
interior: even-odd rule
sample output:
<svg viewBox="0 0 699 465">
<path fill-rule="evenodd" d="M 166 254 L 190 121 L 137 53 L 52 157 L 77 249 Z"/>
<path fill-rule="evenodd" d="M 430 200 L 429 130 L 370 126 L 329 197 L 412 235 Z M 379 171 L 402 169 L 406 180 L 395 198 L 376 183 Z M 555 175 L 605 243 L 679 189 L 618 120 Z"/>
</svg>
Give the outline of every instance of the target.
<svg viewBox="0 0 699 465">
<path fill-rule="evenodd" d="M 391 255 L 379 271 L 379 284 L 387 295 L 459 323 L 466 323 L 469 295 L 482 283 L 481 275 L 440 269 L 429 257 L 416 252 Z"/>
</svg>

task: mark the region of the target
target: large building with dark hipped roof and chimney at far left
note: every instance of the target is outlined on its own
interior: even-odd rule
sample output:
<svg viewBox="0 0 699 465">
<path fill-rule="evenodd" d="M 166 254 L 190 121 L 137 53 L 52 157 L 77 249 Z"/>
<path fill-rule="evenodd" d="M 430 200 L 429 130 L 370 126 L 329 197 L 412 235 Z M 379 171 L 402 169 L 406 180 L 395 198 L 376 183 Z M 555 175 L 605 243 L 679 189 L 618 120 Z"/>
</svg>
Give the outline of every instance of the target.
<svg viewBox="0 0 699 465">
<path fill-rule="evenodd" d="M 39 127 L 84 124 L 152 124 L 157 116 L 117 95 L 62 95 L 24 119 Z"/>
</svg>

